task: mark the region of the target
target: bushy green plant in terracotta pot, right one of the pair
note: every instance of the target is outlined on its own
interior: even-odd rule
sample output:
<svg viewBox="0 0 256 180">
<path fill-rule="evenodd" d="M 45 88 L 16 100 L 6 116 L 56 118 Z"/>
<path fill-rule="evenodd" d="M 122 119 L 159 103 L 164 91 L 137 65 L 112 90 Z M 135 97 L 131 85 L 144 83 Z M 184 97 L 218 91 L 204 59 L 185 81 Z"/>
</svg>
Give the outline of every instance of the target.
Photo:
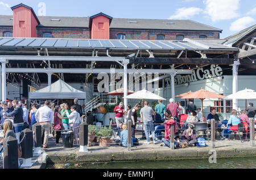
<svg viewBox="0 0 256 180">
<path fill-rule="evenodd" d="M 101 127 L 100 131 L 98 131 L 98 143 L 100 146 L 110 146 L 110 138 L 112 136 L 112 128 L 111 127 Z"/>
</svg>

